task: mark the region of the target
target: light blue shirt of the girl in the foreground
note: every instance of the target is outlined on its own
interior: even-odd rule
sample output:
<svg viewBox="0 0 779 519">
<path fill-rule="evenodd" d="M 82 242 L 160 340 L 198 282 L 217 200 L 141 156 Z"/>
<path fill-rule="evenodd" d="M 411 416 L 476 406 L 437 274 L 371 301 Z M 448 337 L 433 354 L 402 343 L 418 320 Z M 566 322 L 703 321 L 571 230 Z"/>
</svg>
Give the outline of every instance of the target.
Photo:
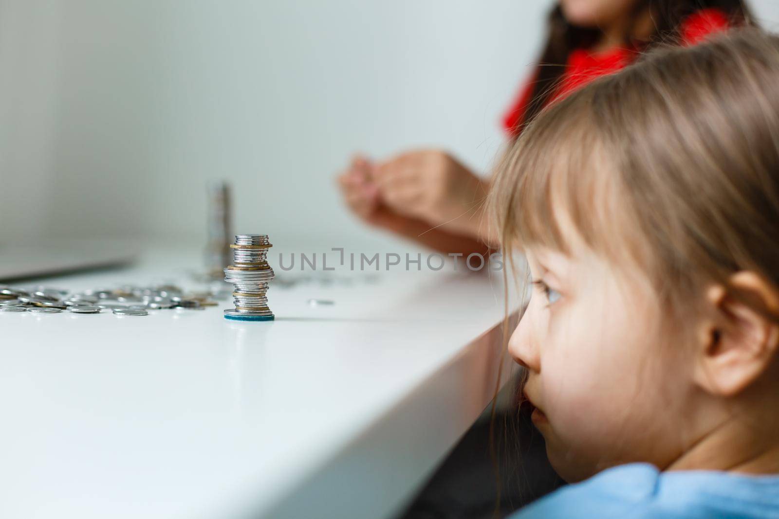
<svg viewBox="0 0 779 519">
<path fill-rule="evenodd" d="M 779 519 L 779 475 L 659 472 L 649 463 L 607 468 L 523 507 L 510 519 Z"/>
</svg>

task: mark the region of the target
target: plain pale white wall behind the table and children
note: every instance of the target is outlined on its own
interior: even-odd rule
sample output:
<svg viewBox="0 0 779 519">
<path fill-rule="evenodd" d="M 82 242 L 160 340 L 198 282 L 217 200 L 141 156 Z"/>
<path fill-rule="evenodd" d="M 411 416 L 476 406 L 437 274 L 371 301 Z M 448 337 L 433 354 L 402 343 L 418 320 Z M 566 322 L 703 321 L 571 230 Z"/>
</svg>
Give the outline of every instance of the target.
<svg viewBox="0 0 779 519">
<path fill-rule="evenodd" d="M 484 172 L 550 0 L 0 0 L 0 240 L 365 243 L 352 152 L 442 146 Z M 779 2 L 753 2 L 770 26 Z"/>
</svg>

